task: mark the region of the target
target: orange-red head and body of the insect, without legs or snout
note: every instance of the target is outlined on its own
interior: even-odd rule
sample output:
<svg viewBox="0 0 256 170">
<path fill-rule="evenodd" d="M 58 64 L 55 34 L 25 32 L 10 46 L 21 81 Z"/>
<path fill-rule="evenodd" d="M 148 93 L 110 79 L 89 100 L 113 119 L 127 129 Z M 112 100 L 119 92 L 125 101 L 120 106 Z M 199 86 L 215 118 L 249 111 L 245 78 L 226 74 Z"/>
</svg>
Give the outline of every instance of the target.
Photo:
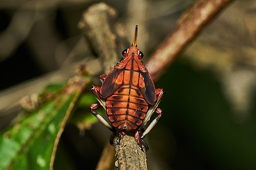
<svg viewBox="0 0 256 170">
<path fill-rule="evenodd" d="M 133 45 L 128 49 L 126 58 L 119 62 L 112 73 L 108 75 L 117 74 L 115 82 L 108 82 L 107 76 L 102 84 L 100 94 L 108 96 L 106 97 L 106 112 L 109 121 L 115 128 L 135 130 L 142 124 L 149 105 L 143 96 L 143 93 L 146 95 L 143 73 L 147 73 L 146 67 L 139 61 L 138 49 Z M 148 78 L 151 81 L 150 76 Z M 150 83 L 153 97 L 151 100 L 154 103 L 156 100 L 155 87 L 152 82 Z M 113 90 L 106 92 L 104 87 Z M 111 95 L 109 96 L 109 94 Z"/>
</svg>

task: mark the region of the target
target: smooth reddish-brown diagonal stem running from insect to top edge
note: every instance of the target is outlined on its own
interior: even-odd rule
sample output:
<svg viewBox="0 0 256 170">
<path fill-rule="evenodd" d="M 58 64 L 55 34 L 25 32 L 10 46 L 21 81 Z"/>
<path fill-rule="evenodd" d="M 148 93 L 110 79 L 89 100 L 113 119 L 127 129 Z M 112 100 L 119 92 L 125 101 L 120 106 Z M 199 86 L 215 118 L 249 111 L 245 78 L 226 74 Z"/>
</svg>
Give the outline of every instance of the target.
<svg viewBox="0 0 256 170">
<path fill-rule="evenodd" d="M 147 69 L 158 79 L 181 51 L 196 38 L 204 26 L 233 0 L 199 0 L 178 20 L 174 32 L 151 55 Z"/>
</svg>

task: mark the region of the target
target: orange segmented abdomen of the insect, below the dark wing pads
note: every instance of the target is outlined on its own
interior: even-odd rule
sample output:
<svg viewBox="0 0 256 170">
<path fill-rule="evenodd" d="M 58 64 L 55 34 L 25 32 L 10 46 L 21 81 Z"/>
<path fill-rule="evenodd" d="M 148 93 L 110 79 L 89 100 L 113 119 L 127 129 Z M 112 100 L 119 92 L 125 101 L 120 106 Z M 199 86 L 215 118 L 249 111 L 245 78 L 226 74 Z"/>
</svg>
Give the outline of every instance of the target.
<svg viewBox="0 0 256 170">
<path fill-rule="evenodd" d="M 106 99 L 109 121 L 117 129 L 134 130 L 142 124 L 148 103 L 138 88 L 137 71 L 124 70 L 121 73 L 122 86 Z"/>
</svg>

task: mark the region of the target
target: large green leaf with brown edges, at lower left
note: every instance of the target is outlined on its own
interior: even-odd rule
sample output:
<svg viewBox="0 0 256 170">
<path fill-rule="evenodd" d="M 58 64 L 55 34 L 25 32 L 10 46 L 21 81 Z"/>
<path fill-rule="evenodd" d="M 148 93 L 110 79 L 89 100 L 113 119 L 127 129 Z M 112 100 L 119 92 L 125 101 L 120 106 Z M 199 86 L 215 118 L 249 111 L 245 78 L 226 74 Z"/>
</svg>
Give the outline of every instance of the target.
<svg viewBox="0 0 256 170">
<path fill-rule="evenodd" d="M 54 100 L 0 134 L 0 169 L 52 169 L 60 135 L 89 79 L 71 82 Z"/>
</svg>

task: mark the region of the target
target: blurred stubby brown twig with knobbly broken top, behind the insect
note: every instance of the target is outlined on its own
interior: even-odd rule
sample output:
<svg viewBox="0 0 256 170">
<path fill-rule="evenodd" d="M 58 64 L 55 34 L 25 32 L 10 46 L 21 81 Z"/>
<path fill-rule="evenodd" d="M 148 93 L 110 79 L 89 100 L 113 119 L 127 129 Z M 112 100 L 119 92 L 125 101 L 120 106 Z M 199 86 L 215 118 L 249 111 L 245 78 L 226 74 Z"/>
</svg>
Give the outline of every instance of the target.
<svg viewBox="0 0 256 170">
<path fill-rule="evenodd" d="M 116 16 L 117 13 L 113 8 L 105 3 L 98 3 L 89 7 L 79 22 L 85 39 L 89 41 L 93 52 L 100 58 L 105 73 L 108 73 L 118 60 L 115 50 L 116 37 L 110 27 Z"/>
</svg>

